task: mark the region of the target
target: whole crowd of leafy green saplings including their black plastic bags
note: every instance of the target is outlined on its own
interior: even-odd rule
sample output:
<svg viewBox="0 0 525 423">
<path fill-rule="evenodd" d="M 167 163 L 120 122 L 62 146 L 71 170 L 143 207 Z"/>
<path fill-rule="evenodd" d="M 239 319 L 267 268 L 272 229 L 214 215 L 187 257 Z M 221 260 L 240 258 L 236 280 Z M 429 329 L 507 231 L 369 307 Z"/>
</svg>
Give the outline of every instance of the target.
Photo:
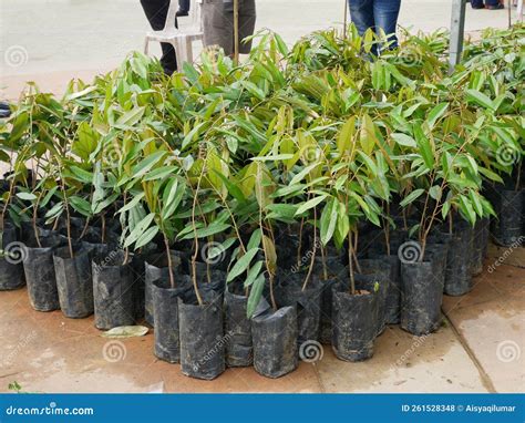
<svg viewBox="0 0 525 423">
<path fill-rule="evenodd" d="M 374 56 L 350 27 L 172 76 L 132 53 L 62 99 L 29 84 L 0 121 L 0 290 L 101 330 L 145 320 L 205 380 L 431 333 L 490 233 L 525 235 L 524 35 L 487 31 L 450 74 L 446 33 Z"/>
</svg>

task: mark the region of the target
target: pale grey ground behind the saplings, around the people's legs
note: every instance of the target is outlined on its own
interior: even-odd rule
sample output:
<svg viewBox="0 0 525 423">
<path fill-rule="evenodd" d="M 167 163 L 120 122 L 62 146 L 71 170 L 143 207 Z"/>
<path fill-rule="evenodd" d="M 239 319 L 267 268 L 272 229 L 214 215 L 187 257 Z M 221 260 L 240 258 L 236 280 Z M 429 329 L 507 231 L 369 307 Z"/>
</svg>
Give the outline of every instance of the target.
<svg viewBox="0 0 525 423">
<path fill-rule="evenodd" d="M 291 43 L 340 25 L 343 0 L 257 0 L 257 27 Z M 449 28 L 452 0 L 403 0 L 400 25 Z M 505 28 L 507 11 L 472 10 L 466 31 Z M 0 97 L 17 99 L 25 81 L 61 92 L 72 78 L 91 80 L 141 50 L 147 30 L 138 0 L 0 0 Z M 154 49 L 154 52 L 157 52 Z"/>
</svg>

